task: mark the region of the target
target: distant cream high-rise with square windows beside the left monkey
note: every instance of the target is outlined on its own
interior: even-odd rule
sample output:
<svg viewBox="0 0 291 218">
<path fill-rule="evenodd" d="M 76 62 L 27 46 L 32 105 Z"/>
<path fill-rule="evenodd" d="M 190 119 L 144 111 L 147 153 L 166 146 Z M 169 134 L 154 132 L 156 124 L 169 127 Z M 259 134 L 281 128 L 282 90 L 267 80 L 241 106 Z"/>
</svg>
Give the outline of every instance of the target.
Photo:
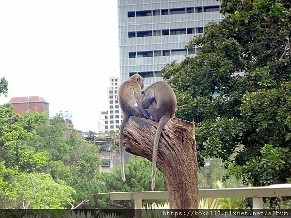
<svg viewBox="0 0 291 218">
<path fill-rule="evenodd" d="M 101 111 L 99 132 L 118 132 L 119 125 L 122 122 L 122 112 L 118 104 L 118 88 L 120 79 L 118 77 L 110 77 L 110 85 L 108 86 L 108 110 Z"/>
</svg>

